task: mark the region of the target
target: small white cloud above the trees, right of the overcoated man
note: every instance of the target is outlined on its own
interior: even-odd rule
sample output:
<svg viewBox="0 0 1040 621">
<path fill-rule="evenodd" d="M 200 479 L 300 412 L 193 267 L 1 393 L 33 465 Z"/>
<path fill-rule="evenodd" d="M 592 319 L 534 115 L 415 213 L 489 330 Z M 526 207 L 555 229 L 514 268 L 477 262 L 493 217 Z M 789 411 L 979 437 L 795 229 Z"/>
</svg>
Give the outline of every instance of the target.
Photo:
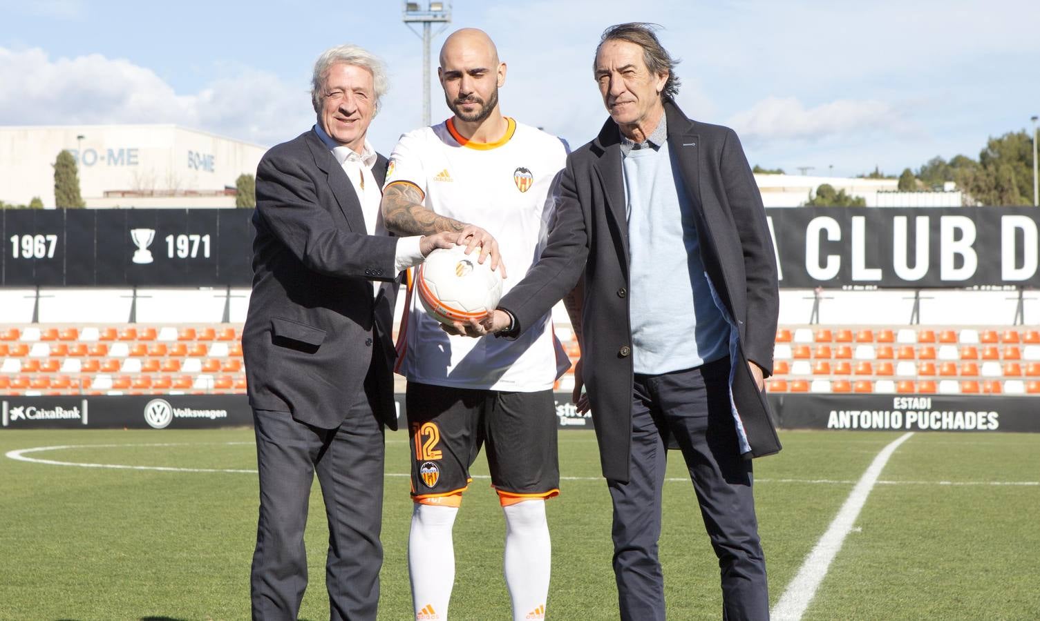
<svg viewBox="0 0 1040 621">
<path fill-rule="evenodd" d="M 747 142 L 818 141 L 830 137 L 902 131 L 891 105 L 877 100 L 835 100 L 805 108 L 796 98 L 766 98 L 729 119 Z"/>
</svg>

